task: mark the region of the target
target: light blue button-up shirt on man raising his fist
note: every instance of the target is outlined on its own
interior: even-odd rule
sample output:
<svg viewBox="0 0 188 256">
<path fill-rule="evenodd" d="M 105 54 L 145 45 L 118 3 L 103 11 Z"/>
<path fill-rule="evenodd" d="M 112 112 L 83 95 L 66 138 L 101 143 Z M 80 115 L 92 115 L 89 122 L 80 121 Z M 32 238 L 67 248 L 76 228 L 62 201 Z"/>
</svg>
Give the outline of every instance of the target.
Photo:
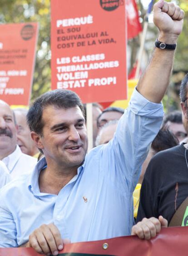
<svg viewBox="0 0 188 256">
<path fill-rule="evenodd" d="M 0 247 L 25 243 L 46 223 L 59 228 L 71 242 L 130 235 L 132 193 L 150 143 L 163 119 L 163 106 L 134 90 L 129 108 L 119 120 L 114 139 L 94 148 L 78 174 L 58 195 L 41 193 L 41 159 L 31 175 L 11 181 L 0 191 Z"/>
</svg>

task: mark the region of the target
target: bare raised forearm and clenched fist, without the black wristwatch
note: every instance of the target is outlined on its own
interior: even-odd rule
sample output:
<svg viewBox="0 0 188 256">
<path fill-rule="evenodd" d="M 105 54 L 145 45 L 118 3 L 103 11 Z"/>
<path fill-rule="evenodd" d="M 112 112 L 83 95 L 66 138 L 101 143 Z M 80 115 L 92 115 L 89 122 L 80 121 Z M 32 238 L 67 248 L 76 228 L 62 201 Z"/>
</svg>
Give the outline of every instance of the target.
<svg viewBox="0 0 188 256">
<path fill-rule="evenodd" d="M 153 6 L 153 21 L 160 33 L 158 40 L 175 44 L 182 31 L 184 12 L 173 3 L 163 0 Z M 159 103 L 169 84 L 173 66 L 174 50 L 156 48 L 153 57 L 139 80 L 137 90 L 149 101 Z"/>
</svg>

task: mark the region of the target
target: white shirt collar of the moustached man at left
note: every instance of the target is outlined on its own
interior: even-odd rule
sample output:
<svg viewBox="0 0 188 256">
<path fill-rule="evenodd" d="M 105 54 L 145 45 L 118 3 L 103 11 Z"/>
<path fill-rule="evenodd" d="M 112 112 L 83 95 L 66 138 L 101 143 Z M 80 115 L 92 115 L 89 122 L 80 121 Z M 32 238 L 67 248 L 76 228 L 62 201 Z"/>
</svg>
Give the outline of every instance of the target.
<svg viewBox="0 0 188 256">
<path fill-rule="evenodd" d="M 6 156 L 5 158 L 2 159 L 10 173 L 13 171 L 21 155 L 22 152 L 20 150 L 20 147 L 16 145 L 15 151 L 13 151 L 9 156 Z"/>
</svg>

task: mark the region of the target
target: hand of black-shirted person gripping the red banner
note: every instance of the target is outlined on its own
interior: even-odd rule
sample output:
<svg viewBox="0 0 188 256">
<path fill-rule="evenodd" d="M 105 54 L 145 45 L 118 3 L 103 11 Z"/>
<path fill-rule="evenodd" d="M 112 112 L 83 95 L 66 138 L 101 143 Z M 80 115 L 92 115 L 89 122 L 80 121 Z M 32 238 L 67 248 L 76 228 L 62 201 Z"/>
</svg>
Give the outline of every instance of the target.
<svg viewBox="0 0 188 256">
<path fill-rule="evenodd" d="M 131 235 L 137 235 L 140 239 L 149 240 L 157 236 L 161 231 L 161 227 L 167 226 L 168 221 L 163 216 L 159 216 L 158 219 L 154 217 L 143 218 L 142 221 L 132 227 Z"/>
</svg>

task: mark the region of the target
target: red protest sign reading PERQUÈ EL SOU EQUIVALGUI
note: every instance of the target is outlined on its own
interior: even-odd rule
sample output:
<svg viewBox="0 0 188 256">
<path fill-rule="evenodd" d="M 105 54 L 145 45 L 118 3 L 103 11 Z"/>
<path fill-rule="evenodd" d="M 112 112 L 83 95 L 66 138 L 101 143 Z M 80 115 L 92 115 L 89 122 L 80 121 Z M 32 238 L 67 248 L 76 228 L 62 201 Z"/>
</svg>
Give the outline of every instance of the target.
<svg viewBox="0 0 188 256">
<path fill-rule="evenodd" d="M 125 25 L 124 0 L 51 0 L 52 89 L 126 99 Z"/>
</svg>

